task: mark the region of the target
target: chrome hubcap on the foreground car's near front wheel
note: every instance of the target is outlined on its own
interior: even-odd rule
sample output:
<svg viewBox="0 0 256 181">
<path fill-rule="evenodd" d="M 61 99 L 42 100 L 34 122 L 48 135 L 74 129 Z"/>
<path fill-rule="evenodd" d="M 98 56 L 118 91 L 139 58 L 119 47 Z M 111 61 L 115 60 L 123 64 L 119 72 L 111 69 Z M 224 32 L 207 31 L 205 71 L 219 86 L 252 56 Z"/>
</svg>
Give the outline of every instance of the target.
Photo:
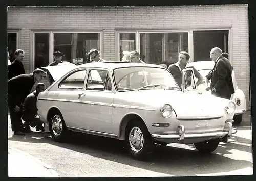
<svg viewBox="0 0 256 181">
<path fill-rule="evenodd" d="M 133 151 L 139 152 L 144 145 L 144 137 L 139 127 L 133 127 L 129 133 L 129 143 Z"/>
</svg>

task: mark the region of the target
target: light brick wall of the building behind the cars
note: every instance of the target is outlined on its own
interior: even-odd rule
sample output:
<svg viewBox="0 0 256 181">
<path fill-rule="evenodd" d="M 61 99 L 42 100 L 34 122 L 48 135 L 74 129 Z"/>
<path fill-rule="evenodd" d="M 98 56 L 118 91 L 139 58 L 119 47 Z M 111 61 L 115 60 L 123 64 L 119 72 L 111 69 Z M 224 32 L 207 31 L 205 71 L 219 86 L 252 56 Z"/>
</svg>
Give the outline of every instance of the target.
<svg viewBox="0 0 256 181">
<path fill-rule="evenodd" d="M 93 27 L 92 27 L 93 26 Z M 233 67 L 249 106 L 247 5 L 175 7 L 9 7 L 8 29 L 20 29 L 20 47 L 29 68 L 31 29 L 103 30 L 103 58 L 115 60 L 115 29 L 210 29 L 231 27 Z"/>
</svg>

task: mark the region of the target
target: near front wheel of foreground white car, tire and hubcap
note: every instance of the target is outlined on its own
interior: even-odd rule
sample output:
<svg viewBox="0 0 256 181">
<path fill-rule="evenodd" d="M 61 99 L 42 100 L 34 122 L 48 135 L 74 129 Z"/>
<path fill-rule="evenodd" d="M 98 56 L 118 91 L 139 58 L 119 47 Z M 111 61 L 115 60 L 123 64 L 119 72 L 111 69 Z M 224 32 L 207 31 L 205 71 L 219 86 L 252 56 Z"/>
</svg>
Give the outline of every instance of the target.
<svg viewBox="0 0 256 181">
<path fill-rule="evenodd" d="M 146 159 L 154 147 L 154 141 L 144 123 L 133 120 L 125 129 L 125 147 L 138 160 Z"/>
</svg>

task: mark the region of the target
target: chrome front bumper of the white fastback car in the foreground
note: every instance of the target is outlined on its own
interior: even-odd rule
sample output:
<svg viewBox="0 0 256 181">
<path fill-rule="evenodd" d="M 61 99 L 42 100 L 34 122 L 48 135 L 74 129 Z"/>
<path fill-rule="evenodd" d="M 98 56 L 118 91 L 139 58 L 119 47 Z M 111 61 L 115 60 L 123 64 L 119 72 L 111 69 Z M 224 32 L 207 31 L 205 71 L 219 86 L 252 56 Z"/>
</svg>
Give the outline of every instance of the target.
<svg viewBox="0 0 256 181">
<path fill-rule="evenodd" d="M 210 132 L 210 133 L 197 133 L 197 134 L 185 134 L 185 126 L 179 125 L 177 134 L 151 134 L 153 138 L 156 139 L 177 139 L 178 141 L 184 141 L 187 138 L 207 138 L 207 137 L 217 137 L 222 138 L 227 135 L 230 137 L 232 134 L 237 133 L 237 129 L 232 127 L 233 120 L 226 120 L 225 127 L 223 131 L 220 132 Z"/>
</svg>

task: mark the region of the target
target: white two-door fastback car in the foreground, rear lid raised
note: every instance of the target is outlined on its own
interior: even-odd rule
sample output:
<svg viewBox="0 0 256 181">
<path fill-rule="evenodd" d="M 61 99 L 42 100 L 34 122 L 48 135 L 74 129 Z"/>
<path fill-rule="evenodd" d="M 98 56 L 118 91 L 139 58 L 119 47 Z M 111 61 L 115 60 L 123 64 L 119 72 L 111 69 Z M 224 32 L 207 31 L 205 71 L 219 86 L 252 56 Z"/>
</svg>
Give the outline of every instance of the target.
<svg viewBox="0 0 256 181">
<path fill-rule="evenodd" d="M 70 131 L 110 137 L 124 140 L 130 154 L 143 159 L 155 144 L 194 144 L 210 153 L 237 132 L 234 102 L 190 96 L 197 86 L 182 83 L 180 89 L 159 65 L 93 62 L 42 69 L 51 72 L 54 83 L 39 93 L 38 115 L 58 142 Z M 187 73 L 193 69 L 183 70 L 182 82 Z"/>
</svg>

